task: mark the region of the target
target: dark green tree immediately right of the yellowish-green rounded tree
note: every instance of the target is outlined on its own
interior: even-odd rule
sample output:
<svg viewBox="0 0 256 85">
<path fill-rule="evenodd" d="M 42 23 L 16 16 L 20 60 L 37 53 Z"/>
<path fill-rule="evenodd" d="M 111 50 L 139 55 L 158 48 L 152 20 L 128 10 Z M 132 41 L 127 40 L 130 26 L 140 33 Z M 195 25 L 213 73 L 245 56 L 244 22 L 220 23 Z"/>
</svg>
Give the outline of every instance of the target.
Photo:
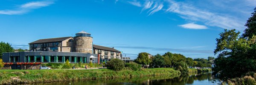
<svg viewBox="0 0 256 85">
<path fill-rule="evenodd" d="M 152 62 L 153 62 L 153 65 L 160 67 L 161 65 L 164 65 L 164 58 L 160 54 L 157 54 L 152 59 Z"/>
</svg>

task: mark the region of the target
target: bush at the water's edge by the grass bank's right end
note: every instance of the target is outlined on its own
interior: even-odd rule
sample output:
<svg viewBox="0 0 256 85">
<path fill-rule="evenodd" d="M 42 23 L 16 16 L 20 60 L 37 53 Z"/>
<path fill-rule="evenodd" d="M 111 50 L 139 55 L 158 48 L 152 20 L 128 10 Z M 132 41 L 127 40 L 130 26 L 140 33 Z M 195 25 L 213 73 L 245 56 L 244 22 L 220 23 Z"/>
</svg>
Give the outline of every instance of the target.
<svg viewBox="0 0 256 85">
<path fill-rule="evenodd" d="M 182 74 L 188 74 L 189 69 L 188 69 L 188 65 L 181 61 L 181 62 L 177 62 L 176 63 L 176 68 L 182 73 Z"/>
</svg>

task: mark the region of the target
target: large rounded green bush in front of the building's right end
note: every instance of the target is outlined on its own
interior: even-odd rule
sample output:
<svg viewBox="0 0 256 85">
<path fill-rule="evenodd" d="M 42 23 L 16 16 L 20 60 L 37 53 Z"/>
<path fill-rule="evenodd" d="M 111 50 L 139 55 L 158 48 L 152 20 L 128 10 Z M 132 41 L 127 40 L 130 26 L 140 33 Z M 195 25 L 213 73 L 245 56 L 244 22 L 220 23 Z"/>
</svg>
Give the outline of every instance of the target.
<svg viewBox="0 0 256 85">
<path fill-rule="evenodd" d="M 125 68 L 125 64 L 120 59 L 111 59 L 107 62 L 107 68 L 114 71 L 120 71 Z"/>
</svg>

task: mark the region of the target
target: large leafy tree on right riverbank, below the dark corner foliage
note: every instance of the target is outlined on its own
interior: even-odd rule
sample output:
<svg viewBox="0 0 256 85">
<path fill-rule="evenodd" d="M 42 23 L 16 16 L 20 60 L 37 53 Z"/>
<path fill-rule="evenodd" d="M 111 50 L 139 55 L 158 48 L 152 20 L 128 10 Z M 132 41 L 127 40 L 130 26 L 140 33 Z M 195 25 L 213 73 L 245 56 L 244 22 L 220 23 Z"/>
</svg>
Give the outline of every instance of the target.
<svg viewBox="0 0 256 85">
<path fill-rule="evenodd" d="M 213 74 L 221 74 L 220 79 L 241 77 L 249 71 L 256 71 L 256 37 L 244 39 L 239 36 L 240 32 L 224 30 L 217 38 Z"/>
</svg>

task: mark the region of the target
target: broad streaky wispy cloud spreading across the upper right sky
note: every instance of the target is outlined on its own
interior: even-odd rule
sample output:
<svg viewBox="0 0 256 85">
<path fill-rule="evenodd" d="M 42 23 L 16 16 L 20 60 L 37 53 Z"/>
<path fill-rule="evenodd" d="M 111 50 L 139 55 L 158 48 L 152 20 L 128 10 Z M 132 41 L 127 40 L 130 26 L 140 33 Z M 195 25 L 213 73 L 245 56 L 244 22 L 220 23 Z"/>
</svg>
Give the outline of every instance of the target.
<svg viewBox="0 0 256 85">
<path fill-rule="evenodd" d="M 256 6 L 256 0 L 225 0 L 221 2 L 212 0 L 201 0 L 196 2 L 144 0 L 138 2 L 137 0 L 133 0 L 128 2 L 134 6 L 142 7 L 141 13 L 148 10 L 148 16 L 162 10 L 165 13 L 175 13 L 189 22 L 204 23 L 205 27 L 212 26 L 224 29 L 235 28 L 239 31 L 244 30 L 244 23 L 246 22 L 247 17 L 250 17 L 248 15 L 250 15 L 253 8 L 250 8 L 249 10 L 249 7 Z M 205 7 L 201 5 L 202 3 L 205 3 Z M 243 7 L 237 7 L 238 5 Z M 201 29 L 206 29 L 204 26 L 200 27 Z"/>
</svg>

